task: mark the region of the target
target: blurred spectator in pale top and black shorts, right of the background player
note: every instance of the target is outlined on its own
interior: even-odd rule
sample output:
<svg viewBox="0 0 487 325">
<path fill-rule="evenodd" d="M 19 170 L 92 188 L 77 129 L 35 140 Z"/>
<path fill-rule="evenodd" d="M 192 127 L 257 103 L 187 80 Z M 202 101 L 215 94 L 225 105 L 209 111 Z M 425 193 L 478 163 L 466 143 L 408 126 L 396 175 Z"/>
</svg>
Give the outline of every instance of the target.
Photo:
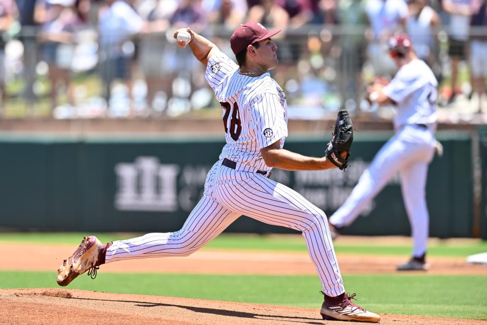
<svg viewBox="0 0 487 325">
<path fill-rule="evenodd" d="M 466 45 L 469 37 L 471 0 L 443 0 L 443 9 L 450 14 L 448 29 L 448 55 L 451 58 L 451 96 L 448 104 L 455 101 L 458 85 L 458 63 L 466 59 Z"/>
</svg>

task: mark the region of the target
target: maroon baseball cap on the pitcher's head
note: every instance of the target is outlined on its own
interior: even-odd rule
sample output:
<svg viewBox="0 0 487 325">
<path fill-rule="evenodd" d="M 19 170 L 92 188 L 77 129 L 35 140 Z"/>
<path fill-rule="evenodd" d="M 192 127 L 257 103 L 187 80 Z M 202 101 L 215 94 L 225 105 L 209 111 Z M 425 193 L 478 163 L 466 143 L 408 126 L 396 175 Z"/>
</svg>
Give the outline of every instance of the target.
<svg viewBox="0 0 487 325">
<path fill-rule="evenodd" d="M 257 22 L 247 22 L 238 26 L 230 37 L 230 47 L 234 54 L 245 50 L 255 42 L 268 39 L 280 32 L 281 29 L 267 30 Z"/>
</svg>

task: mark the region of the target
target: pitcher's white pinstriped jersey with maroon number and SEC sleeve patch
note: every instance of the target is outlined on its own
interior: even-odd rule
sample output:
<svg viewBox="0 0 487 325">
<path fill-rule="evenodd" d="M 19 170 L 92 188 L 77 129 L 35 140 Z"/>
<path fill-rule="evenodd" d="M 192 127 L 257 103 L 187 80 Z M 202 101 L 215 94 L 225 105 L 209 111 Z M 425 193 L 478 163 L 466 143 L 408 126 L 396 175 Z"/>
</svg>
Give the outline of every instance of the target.
<svg viewBox="0 0 487 325">
<path fill-rule="evenodd" d="M 222 105 L 227 144 L 220 159 L 237 163 L 236 170 L 269 171 L 260 154 L 277 140 L 284 146 L 288 136 L 286 96 L 265 73 L 249 77 L 238 73 L 238 66 L 223 53 L 213 55 L 205 78 Z"/>
</svg>

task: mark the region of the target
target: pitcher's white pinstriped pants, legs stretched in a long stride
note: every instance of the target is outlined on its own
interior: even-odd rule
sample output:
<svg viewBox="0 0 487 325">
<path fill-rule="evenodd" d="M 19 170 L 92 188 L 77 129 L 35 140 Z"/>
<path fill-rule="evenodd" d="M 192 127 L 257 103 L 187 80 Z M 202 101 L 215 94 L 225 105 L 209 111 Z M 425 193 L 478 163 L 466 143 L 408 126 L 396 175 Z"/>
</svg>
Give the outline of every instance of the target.
<svg viewBox="0 0 487 325">
<path fill-rule="evenodd" d="M 107 250 L 106 263 L 131 258 L 188 256 L 242 214 L 302 232 L 323 292 L 328 296 L 344 292 L 325 213 L 293 189 L 261 174 L 221 166 L 221 160 L 208 172 L 203 197 L 181 230 L 114 241 Z"/>
</svg>

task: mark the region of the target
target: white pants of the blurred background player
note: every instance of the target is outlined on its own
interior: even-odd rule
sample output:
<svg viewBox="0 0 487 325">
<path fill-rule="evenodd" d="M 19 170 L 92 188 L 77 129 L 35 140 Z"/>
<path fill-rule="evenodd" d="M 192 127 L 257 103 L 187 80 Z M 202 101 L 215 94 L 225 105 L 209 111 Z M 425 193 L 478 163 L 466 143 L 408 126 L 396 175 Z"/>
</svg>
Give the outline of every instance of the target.
<svg viewBox="0 0 487 325">
<path fill-rule="evenodd" d="M 413 256 L 427 250 L 429 215 L 426 206 L 426 177 L 434 156 L 433 131 L 418 125 L 406 125 L 377 152 L 370 166 L 360 176 L 350 197 L 329 218 L 338 227 L 351 224 L 367 204 L 384 188 L 396 172 L 411 224 Z"/>
</svg>

